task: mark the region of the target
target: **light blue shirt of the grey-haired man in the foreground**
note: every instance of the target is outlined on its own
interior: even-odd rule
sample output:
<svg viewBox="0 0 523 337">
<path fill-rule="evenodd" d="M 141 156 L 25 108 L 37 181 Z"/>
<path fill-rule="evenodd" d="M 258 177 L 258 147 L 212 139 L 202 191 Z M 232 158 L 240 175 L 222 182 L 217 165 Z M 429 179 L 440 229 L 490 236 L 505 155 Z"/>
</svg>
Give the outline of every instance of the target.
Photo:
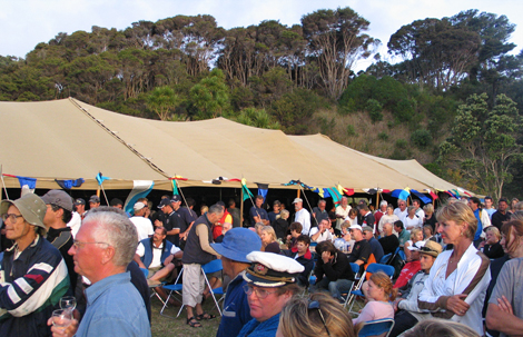
<svg viewBox="0 0 523 337">
<path fill-rule="evenodd" d="M 130 274 L 106 277 L 86 289 L 87 309 L 76 337 L 149 337 L 144 300 L 130 283 Z"/>
</svg>

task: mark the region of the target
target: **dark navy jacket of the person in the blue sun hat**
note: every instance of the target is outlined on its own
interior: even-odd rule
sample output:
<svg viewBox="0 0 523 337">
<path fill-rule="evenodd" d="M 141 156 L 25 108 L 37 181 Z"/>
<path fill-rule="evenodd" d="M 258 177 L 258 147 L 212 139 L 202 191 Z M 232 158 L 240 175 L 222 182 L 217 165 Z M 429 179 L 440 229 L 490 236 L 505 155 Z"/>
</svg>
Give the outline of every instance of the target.
<svg viewBox="0 0 523 337">
<path fill-rule="evenodd" d="M 249 303 L 243 287 L 245 271 L 240 272 L 229 283 L 224 300 L 221 321 L 216 337 L 238 336 L 241 328 L 253 319 L 250 317 Z"/>
</svg>

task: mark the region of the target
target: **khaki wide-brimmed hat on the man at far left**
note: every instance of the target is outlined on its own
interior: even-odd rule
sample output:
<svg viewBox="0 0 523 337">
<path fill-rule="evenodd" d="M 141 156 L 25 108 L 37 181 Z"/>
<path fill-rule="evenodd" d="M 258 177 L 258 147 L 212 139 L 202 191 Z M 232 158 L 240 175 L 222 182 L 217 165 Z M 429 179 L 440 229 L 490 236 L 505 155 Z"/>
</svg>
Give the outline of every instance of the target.
<svg viewBox="0 0 523 337">
<path fill-rule="evenodd" d="M 39 196 L 28 194 L 17 200 L 3 200 L 0 206 L 0 215 L 7 214 L 11 205 L 18 208 L 20 215 L 28 224 L 47 229 L 43 225 L 47 205 Z"/>
</svg>

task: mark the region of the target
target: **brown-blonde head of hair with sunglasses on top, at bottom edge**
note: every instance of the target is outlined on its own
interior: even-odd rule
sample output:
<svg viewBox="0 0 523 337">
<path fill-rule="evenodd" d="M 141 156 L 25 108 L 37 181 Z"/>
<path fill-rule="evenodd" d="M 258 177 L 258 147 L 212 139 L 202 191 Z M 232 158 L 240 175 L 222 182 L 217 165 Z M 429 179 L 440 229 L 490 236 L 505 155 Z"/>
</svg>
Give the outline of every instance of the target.
<svg viewBox="0 0 523 337">
<path fill-rule="evenodd" d="M 355 337 L 351 315 L 326 294 L 290 299 L 279 316 L 276 337 Z"/>
</svg>

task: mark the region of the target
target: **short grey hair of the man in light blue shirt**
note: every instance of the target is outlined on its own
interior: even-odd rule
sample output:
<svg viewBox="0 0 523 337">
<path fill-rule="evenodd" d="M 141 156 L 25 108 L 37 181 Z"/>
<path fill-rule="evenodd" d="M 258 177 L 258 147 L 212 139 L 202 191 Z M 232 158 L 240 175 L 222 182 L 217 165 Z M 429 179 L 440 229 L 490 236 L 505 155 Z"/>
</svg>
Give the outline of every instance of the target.
<svg viewBox="0 0 523 337">
<path fill-rule="evenodd" d="M 96 222 L 91 235 L 96 241 L 115 247 L 115 266 L 127 266 L 135 257 L 138 232 L 127 215 L 118 208 L 101 206 L 89 210 L 85 222 Z"/>
</svg>

